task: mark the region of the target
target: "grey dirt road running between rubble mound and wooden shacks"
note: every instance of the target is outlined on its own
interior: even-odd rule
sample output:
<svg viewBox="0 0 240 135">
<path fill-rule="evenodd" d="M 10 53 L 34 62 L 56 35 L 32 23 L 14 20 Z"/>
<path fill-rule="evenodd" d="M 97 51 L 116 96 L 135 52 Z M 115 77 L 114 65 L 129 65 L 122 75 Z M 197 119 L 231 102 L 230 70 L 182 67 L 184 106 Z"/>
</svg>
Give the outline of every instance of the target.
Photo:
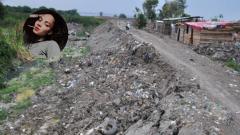
<svg viewBox="0 0 240 135">
<path fill-rule="evenodd" d="M 120 28 L 121 22 L 115 22 Z M 214 101 L 228 108 L 235 119 L 240 119 L 240 77 L 228 72 L 222 65 L 196 54 L 188 46 L 168 37 L 159 38 L 145 31 L 131 29 L 136 39 L 151 43 L 164 59 L 177 70 L 192 76 Z M 236 120 L 236 125 L 240 125 Z"/>
</svg>

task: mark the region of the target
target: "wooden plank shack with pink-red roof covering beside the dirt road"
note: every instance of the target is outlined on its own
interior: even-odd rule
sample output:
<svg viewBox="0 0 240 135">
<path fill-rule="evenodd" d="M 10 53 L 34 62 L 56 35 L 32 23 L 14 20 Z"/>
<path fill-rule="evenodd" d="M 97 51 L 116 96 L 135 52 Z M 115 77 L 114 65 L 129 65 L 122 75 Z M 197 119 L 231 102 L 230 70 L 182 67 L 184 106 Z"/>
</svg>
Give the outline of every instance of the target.
<svg viewBox="0 0 240 135">
<path fill-rule="evenodd" d="M 240 25 L 235 23 L 234 26 Z M 175 31 L 177 41 L 189 45 L 233 43 L 233 33 L 238 31 L 233 23 L 226 21 L 185 22 L 179 24 Z"/>
</svg>

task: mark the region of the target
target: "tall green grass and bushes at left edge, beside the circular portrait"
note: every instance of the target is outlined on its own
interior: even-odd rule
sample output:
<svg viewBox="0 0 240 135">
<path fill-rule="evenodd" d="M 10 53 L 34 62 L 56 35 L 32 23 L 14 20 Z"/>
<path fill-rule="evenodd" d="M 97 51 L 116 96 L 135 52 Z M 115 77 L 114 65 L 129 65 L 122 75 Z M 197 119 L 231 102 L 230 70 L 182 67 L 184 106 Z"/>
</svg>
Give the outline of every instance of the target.
<svg viewBox="0 0 240 135">
<path fill-rule="evenodd" d="M 0 89 L 4 87 L 6 75 L 14 69 L 16 61 L 32 58 L 23 43 L 22 24 L 27 14 L 10 12 L 9 8 L 4 13 L 4 18 L 0 20 Z"/>
</svg>

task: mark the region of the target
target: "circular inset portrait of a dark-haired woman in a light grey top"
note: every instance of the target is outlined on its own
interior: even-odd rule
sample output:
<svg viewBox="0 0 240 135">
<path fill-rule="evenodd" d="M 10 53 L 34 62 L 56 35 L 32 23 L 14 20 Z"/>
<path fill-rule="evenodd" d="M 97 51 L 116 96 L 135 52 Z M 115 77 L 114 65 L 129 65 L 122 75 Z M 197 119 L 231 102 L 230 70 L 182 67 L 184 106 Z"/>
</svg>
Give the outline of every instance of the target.
<svg viewBox="0 0 240 135">
<path fill-rule="evenodd" d="M 64 19 L 55 11 L 42 9 L 25 21 L 24 42 L 33 56 L 58 61 L 68 39 Z"/>
</svg>

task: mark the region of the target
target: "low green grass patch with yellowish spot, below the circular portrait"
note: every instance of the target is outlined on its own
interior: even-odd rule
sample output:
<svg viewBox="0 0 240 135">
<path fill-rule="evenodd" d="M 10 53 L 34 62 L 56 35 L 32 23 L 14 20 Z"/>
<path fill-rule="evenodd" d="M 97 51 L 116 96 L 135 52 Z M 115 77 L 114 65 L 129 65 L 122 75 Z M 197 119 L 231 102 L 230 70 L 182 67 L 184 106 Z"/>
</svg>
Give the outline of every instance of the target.
<svg viewBox="0 0 240 135">
<path fill-rule="evenodd" d="M 40 87 L 51 85 L 54 82 L 54 73 L 47 67 L 31 68 L 22 72 L 18 77 L 11 79 L 7 87 L 0 89 L 0 102 L 16 103 L 9 110 L 0 112 L 0 121 L 10 116 L 17 116 L 31 106 L 31 97 Z"/>
</svg>

